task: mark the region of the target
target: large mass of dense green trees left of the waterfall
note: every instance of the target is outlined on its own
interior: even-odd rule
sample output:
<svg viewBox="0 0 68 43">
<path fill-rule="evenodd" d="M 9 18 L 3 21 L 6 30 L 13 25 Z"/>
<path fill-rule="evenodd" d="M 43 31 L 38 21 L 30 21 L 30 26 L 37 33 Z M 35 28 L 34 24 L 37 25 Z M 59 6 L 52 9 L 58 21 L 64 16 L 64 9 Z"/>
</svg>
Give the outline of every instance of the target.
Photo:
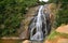
<svg viewBox="0 0 68 43">
<path fill-rule="evenodd" d="M 0 37 L 13 34 L 21 26 L 26 8 L 36 5 L 38 0 L 0 0 Z"/>
</svg>

